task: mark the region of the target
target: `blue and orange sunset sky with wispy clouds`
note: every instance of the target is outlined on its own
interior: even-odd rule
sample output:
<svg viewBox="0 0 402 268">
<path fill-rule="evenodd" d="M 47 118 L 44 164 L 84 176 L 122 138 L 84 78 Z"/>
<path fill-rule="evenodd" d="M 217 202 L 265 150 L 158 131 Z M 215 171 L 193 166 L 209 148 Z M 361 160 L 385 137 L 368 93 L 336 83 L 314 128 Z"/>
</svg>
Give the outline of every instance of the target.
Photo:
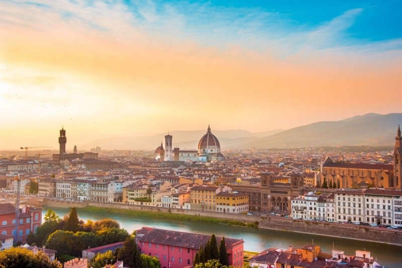
<svg viewBox="0 0 402 268">
<path fill-rule="evenodd" d="M 401 26 L 402 1 L 0 0 L 0 150 L 401 112 Z"/>
</svg>

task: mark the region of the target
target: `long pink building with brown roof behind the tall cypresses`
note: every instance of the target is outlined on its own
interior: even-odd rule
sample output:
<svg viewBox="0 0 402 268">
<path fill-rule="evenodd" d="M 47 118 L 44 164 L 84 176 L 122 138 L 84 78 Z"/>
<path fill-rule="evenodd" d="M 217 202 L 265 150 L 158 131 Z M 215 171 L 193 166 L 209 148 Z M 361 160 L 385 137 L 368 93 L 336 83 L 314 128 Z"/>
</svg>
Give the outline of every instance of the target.
<svg viewBox="0 0 402 268">
<path fill-rule="evenodd" d="M 205 245 L 211 235 L 170 231 L 150 227 L 137 230 L 136 242 L 141 253 L 156 256 L 162 268 L 182 268 L 192 265 L 200 245 Z M 217 236 L 217 246 L 222 237 Z M 229 265 L 243 266 L 243 239 L 225 237 Z"/>
</svg>

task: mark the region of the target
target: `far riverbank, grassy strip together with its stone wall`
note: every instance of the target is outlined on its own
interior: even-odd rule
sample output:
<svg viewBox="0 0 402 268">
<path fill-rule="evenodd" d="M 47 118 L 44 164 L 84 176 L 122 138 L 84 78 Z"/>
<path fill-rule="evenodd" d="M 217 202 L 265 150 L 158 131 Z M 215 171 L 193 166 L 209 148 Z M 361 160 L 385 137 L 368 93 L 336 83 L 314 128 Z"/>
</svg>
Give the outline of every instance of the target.
<svg viewBox="0 0 402 268">
<path fill-rule="evenodd" d="M 311 233 L 331 237 L 342 237 L 356 240 L 382 242 L 387 244 L 402 245 L 402 231 L 388 230 L 382 228 L 361 227 L 360 225 L 292 220 L 283 217 L 263 217 L 246 214 L 229 214 L 212 211 L 194 211 L 186 209 L 169 209 L 161 207 L 149 207 L 138 205 L 127 205 L 117 203 L 98 203 L 91 201 L 62 201 L 44 199 L 43 206 L 69 208 L 79 207 L 97 212 L 108 213 L 137 213 L 152 217 L 182 219 L 184 221 L 195 220 L 200 222 L 226 223 L 241 222 L 241 226 L 253 226 L 258 222 L 258 228 L 292 231 L 300 233 Z M 145 213 L 145 214 L 142 214 Z"/>
</svg>

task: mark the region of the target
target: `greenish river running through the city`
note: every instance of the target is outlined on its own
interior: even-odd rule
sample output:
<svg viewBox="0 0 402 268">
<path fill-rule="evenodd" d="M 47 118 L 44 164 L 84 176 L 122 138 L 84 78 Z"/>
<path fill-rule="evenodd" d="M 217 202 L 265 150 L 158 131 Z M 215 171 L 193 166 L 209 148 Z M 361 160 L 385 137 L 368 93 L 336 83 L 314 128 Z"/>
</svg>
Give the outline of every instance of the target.
<svg viewBox="0 0 402 268">
<path fill-rule="evenodd" d="M 45 208 L 42 216 L 46 214 L 48 208 Z M 63 218 L 69 213 L 69 209 L 50 208 L 58 216 Z M 118 213 L 100 213 L 88 212 L 77 209 L 78 218 L 86 221 L 93 221 L 111 218 L 120 223 L 129 233 L 133 230 L 141 229 L 144 226 L 168 229 L 183 232 L 193 232 L 211 235 L 215 233 L 218 236 L 225 236 L 244 240 L 244 250 L 261 252 L 264 249 L 275 247 L 287 249 L 289 245 L 302 247 L 304 244 L 313 243 L 321 245 L 321 250 L 331 253 L 331 249 L 344 250 L 347 255 L 354 255 L 355 250 L 371 251 L 371 256 L 377 258 L 377 261 L 386 267 L 402 267 L 402 246 L 389 245 L 384 243 L 375 243 L 368 241 L 352 240 L 340 237 L 330 237 L 306 233 L 296 233 L 288 231 L 277 231 L 269 229 L 252 229 L 238 226 L 227 226 L 223 224 L 201 223 L 170 219 L 155 219 L 144 216 L 132 216 Z"/>
</svg>

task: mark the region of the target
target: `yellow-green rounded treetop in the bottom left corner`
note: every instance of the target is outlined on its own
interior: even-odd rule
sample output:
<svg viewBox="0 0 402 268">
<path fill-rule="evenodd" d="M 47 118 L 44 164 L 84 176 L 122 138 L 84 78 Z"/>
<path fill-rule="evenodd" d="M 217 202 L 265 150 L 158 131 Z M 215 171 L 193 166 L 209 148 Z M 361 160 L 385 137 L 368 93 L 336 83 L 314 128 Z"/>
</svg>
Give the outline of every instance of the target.
<svg viewBox="0 0 402 268">
<path fill-rule="evenodd" d="M 61 268 L 62 266 L 63 264 L 57 261 L 51 261 L 43 251 L 34 254 L 26 248 L 12 247 L 0 252 L 0 267 Z"/>
</svg>

